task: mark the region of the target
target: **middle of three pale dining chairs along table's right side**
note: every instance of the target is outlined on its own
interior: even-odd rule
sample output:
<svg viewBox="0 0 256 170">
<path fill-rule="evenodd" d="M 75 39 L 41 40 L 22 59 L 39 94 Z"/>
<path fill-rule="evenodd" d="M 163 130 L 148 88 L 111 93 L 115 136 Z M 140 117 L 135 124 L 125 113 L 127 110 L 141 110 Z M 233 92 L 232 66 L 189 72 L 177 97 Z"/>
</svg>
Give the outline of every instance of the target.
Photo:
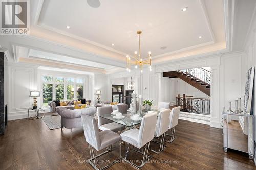
<svg viewBox="0 0 256 170">
<path fill-rule="evenodd" d="M 169 128 L 169 123 L 170 123 L 169 117 L 170 117 L 170 109 L 164 109 L 160 111 L 157 118 L 155 137 L 159 138 L 160 142 L 157 142 L 157 143 L 160 144 L 160 147 L 158 151 L 151 149 L 151 151 L 157 154 L 159 154 L 165 148 L 164 138 L 165 138 L 165 132 L 167 132 Z M 156 142 L 155 140 L 152 140 L 152 141 Z"/>
</svg>

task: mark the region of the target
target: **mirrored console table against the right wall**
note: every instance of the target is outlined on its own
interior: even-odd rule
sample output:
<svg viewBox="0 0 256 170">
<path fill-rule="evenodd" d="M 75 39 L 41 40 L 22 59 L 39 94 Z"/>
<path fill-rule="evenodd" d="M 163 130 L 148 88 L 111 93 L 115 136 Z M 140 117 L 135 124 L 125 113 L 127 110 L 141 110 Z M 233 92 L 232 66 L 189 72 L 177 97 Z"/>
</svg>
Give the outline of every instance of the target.
<svg viewBox="0 0 256 170">
<path fill-rule="evenodd" d="M 254 116 L 249 114 L 236 114 L 223 108 L 223 149 L 228 148 L 246 152 L 249 158 L 254 155 Z"/>
</svg>

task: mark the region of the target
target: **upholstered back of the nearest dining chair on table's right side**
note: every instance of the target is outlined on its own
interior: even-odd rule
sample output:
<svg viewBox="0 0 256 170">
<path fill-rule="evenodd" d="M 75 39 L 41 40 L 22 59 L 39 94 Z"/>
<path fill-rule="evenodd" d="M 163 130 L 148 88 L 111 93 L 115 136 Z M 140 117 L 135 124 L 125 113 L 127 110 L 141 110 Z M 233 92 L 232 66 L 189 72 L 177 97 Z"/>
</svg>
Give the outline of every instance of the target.
<svg viewBox="0 0 256 170">
<path fill-rule="evenodd" d="M 142 118 L 139 137 L 138 147 L 143 147 L 146 143 L 150 142 L 154 138 L 157 123 L 157 113 L 145 115 Z"/>
</svg>

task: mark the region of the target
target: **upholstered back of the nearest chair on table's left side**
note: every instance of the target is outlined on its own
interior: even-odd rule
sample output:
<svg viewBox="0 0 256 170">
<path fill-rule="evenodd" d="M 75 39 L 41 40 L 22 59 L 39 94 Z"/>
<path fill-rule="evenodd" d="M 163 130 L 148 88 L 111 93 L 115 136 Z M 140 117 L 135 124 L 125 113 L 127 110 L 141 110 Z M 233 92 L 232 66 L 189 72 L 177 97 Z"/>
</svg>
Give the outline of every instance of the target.
<svg viewBox="0 0 256 170">
<path fill-rule="evenodd" d="M 84 136 L 86 137 L 86 142 L 89 143 L 97 151 L 100 150 L 100 136 L 99 129 L 96 124 L 96 120 L 92 116 L 86 114 L 81 115 Z"/>
</svg>

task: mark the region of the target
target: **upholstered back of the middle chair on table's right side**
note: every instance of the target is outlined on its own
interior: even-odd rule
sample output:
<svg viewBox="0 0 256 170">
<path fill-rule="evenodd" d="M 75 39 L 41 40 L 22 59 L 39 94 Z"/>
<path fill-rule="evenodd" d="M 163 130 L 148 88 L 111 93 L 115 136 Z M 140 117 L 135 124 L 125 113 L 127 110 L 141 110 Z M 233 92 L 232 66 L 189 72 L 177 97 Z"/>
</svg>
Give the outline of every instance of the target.
<svg viewBox="0 0 256 170">
<path fill-rule="evenodd" d="M 159 137 L 168 131 L 170 124 L 170 109 L 162 110 L 157 118 L 156 136 Z"/>
</svg>

